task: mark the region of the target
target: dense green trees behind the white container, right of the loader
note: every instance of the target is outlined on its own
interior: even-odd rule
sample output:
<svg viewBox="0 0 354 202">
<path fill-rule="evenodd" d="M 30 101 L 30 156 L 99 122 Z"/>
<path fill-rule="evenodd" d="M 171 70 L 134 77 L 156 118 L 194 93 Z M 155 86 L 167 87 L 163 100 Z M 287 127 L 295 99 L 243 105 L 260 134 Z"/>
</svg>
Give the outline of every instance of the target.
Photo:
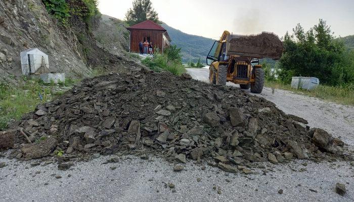
<svg viewBox="0 0 354 202">
<path fill-rule="evenodd" d="M 350 71 L 346 71 L 349 70 L 346 66 L 350 62 L 344 63 L 344 57 L 350 54 L 344 54 L 343 42 L 334 40 L 332 34 L 330 26 L 322 19 L 307 32 L 300 24 L 292 35 L 287 32 L 278 78 L 285 83 L 289 83 L 292 76 L 313 76 L 328 85 L 349 82 Z"/>
</svg>

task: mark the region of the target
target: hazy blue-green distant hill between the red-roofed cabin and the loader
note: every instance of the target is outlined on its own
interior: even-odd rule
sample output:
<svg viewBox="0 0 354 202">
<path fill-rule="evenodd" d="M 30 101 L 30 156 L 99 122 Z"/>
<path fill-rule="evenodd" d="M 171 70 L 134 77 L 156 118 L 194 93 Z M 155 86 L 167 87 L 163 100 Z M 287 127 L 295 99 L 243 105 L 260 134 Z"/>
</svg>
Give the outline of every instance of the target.
<svg viewBox="0 0 354 202">
<path fill-rule="evenodd" d="M 183 62 L 188 63 L 189 60 L 197 62 L 200 58 L 202 63 L 206 63 L 206 56 L 208 55 L 213 43 L 213 39 L 202 36 L 186 34 L 178 29 L 168 26 L 163 23 L 161 25 L 168 32 L 171 37 L 171 44 L 182 47 Z"/>
</svg>

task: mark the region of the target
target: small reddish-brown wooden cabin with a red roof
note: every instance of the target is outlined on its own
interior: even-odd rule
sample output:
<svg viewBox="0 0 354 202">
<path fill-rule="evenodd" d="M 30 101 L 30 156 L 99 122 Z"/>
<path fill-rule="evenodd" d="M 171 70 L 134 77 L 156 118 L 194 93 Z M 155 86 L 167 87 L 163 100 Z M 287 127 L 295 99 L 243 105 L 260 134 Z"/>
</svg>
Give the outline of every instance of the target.
<svg viewBox="0 0 354 202">
<path fill-rule="evenodd" d="M 139 53 L 139 42 L 144 43 L 145 40 L 148 40 L 149 43 L 152 42 L 154 52 L 161 53 L 171 41 L 166 29 L 151 20 L 146 20 L 126 29 L 130 33 L 129 52 Z"/>
</svg>

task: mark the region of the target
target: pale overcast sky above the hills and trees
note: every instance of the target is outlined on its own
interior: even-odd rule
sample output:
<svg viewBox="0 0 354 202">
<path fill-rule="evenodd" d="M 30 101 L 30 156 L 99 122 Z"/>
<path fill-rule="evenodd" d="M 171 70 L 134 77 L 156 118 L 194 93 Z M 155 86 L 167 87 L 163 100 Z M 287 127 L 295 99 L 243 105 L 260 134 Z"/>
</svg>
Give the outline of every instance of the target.
<svg viewBox="0 0 354 202">
<path fill-rule="evenodd" d="M 98 0 L 99 9 L 124 19 L 132 0 Z M 335 36 L 354 34 L 354 0 L 151 0 L 160 21 L 188 34 L 217 39 L 234 34 L 292 33 L 296 24 L 308 30 L 322 18 Z"/>
</svg>

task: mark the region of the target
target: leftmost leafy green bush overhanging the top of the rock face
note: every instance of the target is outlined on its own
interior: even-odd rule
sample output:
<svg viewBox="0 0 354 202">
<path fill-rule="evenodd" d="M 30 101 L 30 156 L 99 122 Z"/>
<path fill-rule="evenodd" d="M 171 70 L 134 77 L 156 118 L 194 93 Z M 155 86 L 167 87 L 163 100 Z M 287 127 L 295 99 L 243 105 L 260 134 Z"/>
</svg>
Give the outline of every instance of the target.
<svg viewBox="0 0 354 202">
<path fill-rule="evenodd" d="M 65 0 L 42 0 L 47 12 L 53 15 L 63 25 L 66 25 L 69 15 L 69 6 Z"/>
</svg>

